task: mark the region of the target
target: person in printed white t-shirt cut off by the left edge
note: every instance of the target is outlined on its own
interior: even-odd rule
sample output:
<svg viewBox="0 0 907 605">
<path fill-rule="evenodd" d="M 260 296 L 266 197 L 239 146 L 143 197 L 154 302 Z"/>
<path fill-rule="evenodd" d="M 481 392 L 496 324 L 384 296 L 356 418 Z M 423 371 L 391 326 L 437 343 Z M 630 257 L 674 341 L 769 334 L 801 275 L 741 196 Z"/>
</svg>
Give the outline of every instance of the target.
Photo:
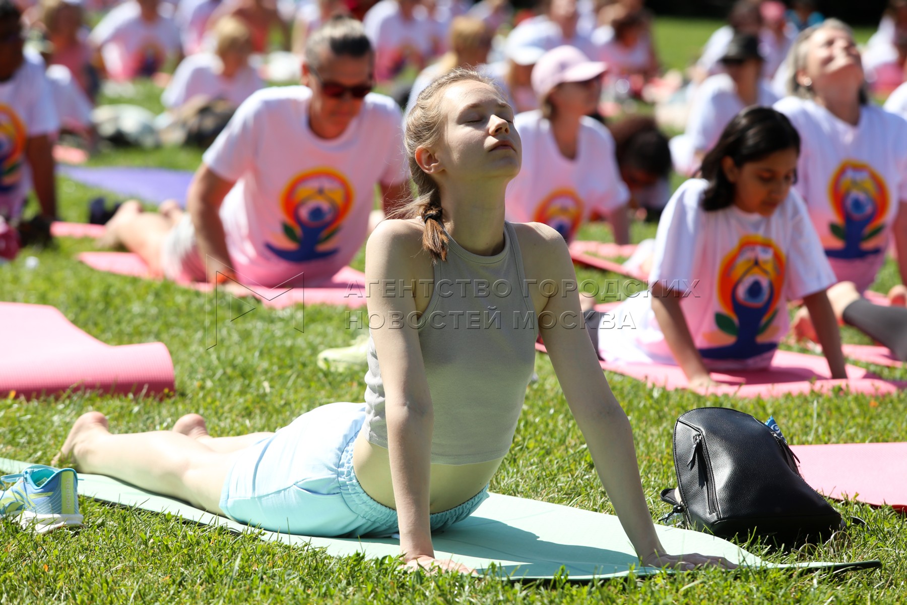
<svg viewBox="0 0 907 605">
<path fill-rule="evenodd" d="M 0 222 L 13 228 L 33 183 L 44 220 L 56 216 L 53 140 L 60 121 L 44 60 L 24 54 L 23 35 L 18 6 L 0 0 Z"/>
</svg>

